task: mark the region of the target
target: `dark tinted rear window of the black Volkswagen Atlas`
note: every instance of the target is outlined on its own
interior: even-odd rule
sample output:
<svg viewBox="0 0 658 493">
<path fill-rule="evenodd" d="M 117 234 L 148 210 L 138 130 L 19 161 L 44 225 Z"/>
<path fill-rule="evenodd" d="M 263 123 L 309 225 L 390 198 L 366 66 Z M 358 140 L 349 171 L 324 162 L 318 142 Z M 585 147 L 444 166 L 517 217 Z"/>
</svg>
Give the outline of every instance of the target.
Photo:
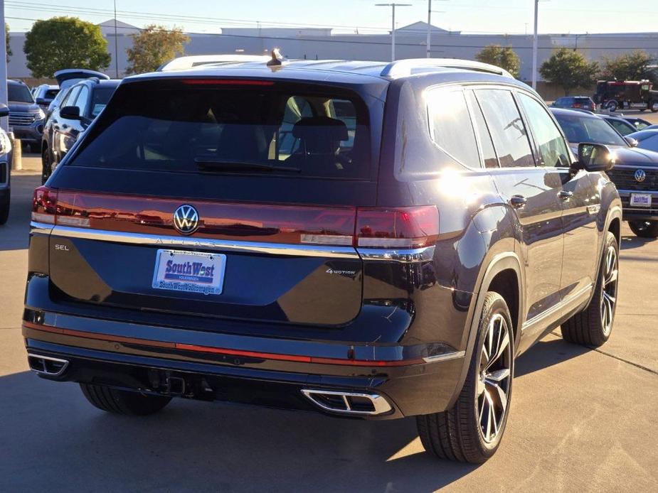
<svg viewBox="0 0 658 493">
<path fill-rule="evenodd" d="M 70 165 L 368 177 L 359 99 L 265 81 L 205 82 L 122 87 Z"/>
</svg>

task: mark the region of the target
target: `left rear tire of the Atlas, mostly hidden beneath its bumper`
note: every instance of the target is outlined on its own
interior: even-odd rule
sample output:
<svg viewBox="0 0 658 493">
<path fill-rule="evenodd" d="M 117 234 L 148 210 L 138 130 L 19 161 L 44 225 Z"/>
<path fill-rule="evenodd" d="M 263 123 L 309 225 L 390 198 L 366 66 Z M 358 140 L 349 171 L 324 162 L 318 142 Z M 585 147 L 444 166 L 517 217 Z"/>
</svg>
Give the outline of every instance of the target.
<svg viewBox="0 0 658 493">
<path fill-rule="evenodd" d="M 104 385 L 80 384 L 80 389 L 93 406 L 108 413 L 128 416 L 157 413 L 171 401 L 171 397 L 149 396 L 139 392 L 111 389 Z"/>
</svg>

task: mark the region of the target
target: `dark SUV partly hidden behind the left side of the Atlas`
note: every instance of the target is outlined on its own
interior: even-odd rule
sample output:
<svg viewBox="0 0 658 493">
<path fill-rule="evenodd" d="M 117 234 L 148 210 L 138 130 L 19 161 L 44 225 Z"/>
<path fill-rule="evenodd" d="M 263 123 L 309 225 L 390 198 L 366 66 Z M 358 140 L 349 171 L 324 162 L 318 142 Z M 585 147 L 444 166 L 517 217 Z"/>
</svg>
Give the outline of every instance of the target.
<svg viewBox="0 0 658 493">
<path fill-rule="evenodd" d="M 78 141 L 87 126 L 110 101 L 120 80 L 82 80 L 65 92 L 58 107 L 46 121 L 41 142 L 41 180 L 46 183 L 53 168 Z"/>
</svg>

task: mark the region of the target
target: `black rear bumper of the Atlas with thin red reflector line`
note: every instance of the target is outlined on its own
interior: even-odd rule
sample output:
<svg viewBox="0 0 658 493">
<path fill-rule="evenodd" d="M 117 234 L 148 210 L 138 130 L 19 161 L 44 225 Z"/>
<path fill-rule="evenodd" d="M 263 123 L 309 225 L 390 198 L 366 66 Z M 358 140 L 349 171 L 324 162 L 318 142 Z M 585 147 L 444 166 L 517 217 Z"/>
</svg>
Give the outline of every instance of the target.
<svg viewBox="0 0 658 493">
<path fill-rule="evenodd" d="M 415 346 L 243 337 L 32 310 L 26 318 L 28 353 L 68 362 L 61 374 L 41 374 L 48 379 L 336 416 L 354 415 L 327 411 L 302 390 L 373 394 L 390 406 L 386 413 L 358 417 L 433 413 L 450 403 L 464 360 L 463 352 L 445 347 L 428 355 L 425 346 L 423 356 Z M 363 359 L 366 351 L 370 358 Z M 172 391 L 169 380 L 184 383 Z"/>
</svg>

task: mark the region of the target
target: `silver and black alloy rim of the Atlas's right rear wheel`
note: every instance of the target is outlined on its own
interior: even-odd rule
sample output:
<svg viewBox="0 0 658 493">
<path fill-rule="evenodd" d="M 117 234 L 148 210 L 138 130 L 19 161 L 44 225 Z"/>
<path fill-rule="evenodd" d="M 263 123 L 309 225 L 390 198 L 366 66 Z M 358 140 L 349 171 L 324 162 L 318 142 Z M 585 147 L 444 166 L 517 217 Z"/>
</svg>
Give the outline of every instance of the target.
<svg viewBox="0 0 658 493">
<path fill-rule="evenodd" d="M 504 423 L 511 381 L 511 360 L 507 320 L 497 313 L 489 321 L 484 336 L 477 381 L 479 430 L 487 443 L 495 440 Z"/>
</svg>

